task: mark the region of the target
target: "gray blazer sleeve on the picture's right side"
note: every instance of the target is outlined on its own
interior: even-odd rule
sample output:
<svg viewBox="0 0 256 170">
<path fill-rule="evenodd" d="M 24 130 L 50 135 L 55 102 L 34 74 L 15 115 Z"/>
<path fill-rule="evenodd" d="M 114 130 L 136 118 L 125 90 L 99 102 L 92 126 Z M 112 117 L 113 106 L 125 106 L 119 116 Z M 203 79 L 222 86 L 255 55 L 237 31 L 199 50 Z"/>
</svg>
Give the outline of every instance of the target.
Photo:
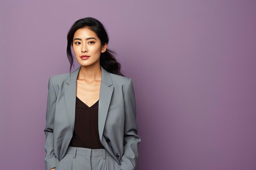
<svg viewBox="0 0 256 170">
<path fill-rule="evenodd" d="M 129 79 L 124 95 L 124 109 L 124 154 L 120 160 L 120 168 L 122 170 L 134 170 L 138 158 L 138 146 L 141 138 L 137 135 L 136 102 L 132 79 Z"/>
</svg>

